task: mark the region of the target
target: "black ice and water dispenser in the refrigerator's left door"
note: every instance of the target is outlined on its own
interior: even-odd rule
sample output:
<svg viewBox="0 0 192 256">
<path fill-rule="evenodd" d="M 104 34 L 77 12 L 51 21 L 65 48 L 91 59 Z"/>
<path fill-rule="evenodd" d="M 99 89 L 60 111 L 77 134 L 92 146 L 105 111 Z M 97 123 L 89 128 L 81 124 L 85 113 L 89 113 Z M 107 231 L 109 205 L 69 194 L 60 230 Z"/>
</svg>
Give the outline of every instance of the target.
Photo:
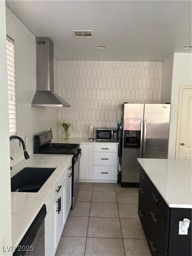
<svg viewBox="0 0 192 256">
<path fill-rule="evenodd" d="M 124 131 L 124 148 L 140 148 L 141 131 Z"/>
</svg>

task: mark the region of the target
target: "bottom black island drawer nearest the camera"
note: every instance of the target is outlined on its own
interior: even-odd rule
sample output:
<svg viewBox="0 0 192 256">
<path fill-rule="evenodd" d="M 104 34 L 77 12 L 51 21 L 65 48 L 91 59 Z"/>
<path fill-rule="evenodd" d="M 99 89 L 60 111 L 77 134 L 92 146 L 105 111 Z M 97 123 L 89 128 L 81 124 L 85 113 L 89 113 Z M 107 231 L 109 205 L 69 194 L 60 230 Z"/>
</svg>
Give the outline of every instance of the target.
<svg viewBox="0 0 192 256">
<path fill-rule="evenodd" d="M 149 218 L 149 226 L 148 226 L 148 238 L 147 242 L 149 245 L 149 249 L 151 251 L 151 255 L 153 256 L 167 256 L 167 251 L 164 249 L 163 244 L 153 226 L 152 220 Z"/>
</svg>

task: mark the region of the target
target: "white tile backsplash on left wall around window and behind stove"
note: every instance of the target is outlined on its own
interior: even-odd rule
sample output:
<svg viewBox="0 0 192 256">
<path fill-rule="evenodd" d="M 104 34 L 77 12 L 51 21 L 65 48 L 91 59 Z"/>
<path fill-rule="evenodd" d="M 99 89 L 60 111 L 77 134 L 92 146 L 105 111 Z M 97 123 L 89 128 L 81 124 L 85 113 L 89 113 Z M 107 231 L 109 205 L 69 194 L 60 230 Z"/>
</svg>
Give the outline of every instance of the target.
<svg viewBox="0 0 192 256">
<path fill-rule="evenodd" d="M 25 140 L 29 154 L 33 153 L 34 138 L 39 132 L 52 128 L 53 138 L 57 138 L 58 108 L 31 107 L 36 91 L 36 39 L 22 21 L 6 6 L 7 35 L 14 40 L 17 135 Z M 54 83 L 57 92 L 57 60 L 54 58 Z M 18 140 L 10 142 L 11 165 L 24 159 L 23 149 Z"/>
</svg>

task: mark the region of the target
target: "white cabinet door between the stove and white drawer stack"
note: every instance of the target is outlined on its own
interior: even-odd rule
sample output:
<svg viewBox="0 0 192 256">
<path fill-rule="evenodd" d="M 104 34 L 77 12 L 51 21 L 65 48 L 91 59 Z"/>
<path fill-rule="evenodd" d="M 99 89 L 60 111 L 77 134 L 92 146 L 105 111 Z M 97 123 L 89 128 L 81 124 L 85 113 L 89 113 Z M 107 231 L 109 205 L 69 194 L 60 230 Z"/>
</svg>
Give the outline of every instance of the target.
<svg viewBox="0 0 192 256">
<path fill-rule="evenodd" d="M 93 178 L 93 145 L 80 145 L 82 157 L 79 166 L 80 179 Z"/>
</svg>

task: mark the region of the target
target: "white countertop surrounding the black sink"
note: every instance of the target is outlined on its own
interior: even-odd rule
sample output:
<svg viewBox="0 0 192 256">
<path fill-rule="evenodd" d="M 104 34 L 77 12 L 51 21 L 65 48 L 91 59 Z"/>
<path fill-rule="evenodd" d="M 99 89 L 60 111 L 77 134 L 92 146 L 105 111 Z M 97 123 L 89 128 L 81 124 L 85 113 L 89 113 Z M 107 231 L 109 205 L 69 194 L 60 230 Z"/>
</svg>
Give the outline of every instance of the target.
<svg viewBox="0 0 192 256">
<path fill-rule="evenodd" d="M 13 246 L 18 246 L 72 157 L 73 155 L 32 154 L 29 159 L 13 166 L 11 177 L 25 167 L 56 167 L 37 193 L 11 192 Z"/>
</svg>

